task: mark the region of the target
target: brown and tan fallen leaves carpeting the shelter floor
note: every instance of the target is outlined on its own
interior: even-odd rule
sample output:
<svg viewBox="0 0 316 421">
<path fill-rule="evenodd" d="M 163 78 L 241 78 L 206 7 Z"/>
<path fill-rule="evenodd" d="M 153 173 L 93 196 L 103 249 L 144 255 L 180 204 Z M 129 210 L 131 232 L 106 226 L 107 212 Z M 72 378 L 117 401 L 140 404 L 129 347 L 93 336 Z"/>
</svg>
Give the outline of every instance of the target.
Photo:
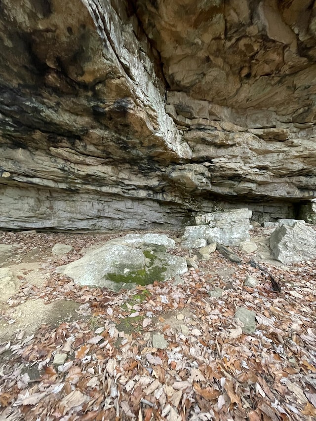
<svg viewBox="0 0 316 421">
<path fill-rule="evenodd" d="M 83 247 L 113 236 L 0 233 L 2 243 L 17 244 L 2 267 L 36 261 L 46 275 L 36 288 L 22 279 L 9 306 L 38 299 L 79 306 L 69 321 L 33 334 L 16 329 L 2 341 L 1 420 L 315 420 L 315 261 L 265 263 L 278 292 L 237 249 L 240 265 L 216 251 L 182 275 L 183 283 L 156 282 L 119 294 L 54 273 L 81 257 Z M 74 249 L 52 256 L 57 242 Z M 244 285 L 247 275 L 256 287 Z M 209 295 L 215 288 L 223 290 L 220 298 Z M 238 307 L 255 312 L 254 334 L 243 333 Z M 5 313 L 1 317 L 7 322 Z M 153 347 L 157 333 L 165 347 Z"/>
</svg>

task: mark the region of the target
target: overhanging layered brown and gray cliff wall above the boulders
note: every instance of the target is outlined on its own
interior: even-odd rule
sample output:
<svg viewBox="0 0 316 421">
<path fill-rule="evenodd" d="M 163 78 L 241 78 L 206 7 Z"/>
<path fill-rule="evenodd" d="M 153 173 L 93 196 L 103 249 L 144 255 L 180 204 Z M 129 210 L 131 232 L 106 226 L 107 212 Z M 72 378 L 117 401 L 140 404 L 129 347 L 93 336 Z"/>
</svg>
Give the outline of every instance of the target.
<svg viewBox="0 0 316 421">
<path fill-rule="evenodd" d="M 0 38 L 0 227 L 316 197 L 314 0 L 1 0 Z"/>
</svg>

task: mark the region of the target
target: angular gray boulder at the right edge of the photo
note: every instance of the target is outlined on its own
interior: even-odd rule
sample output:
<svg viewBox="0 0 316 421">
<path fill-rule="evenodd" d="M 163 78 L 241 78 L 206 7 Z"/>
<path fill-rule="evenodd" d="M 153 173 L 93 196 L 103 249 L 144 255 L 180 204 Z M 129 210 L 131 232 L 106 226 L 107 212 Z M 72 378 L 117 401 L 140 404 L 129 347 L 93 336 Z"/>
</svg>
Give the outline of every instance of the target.
<svg viewBox="0 0 316 421">
<path fill-rule="evenodd" d="M 275 258 L 284 264 L 315 259 L 316 231 L 301 222 L 281 225 L 271 234 L 270 247 Z"/>
</svg>

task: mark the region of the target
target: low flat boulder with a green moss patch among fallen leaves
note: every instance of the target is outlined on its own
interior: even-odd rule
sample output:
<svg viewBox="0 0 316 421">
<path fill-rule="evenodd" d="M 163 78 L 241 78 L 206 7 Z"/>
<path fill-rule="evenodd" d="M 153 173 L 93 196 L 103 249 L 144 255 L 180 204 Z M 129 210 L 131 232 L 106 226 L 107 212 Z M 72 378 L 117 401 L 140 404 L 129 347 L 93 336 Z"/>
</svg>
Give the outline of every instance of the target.
<svg viewBox="0 0 316 421">
<path fill-rule="evenodd" d="M 186 259 L 166 253 L 161 242 L 172 244 L 166 235 L 146 234 L 152 242 L 140 242 L 141 236 L 126 237 L 107 242 L 102 247 L 87 252 L 81 259 L 56 268 L 80 285 L 108 288 L 118 291 L 147 285 L 185 273 Z M 144 237 L 144 236 L 143 236 Z M 174 245 L 174 244 L 173 244 Z"/>
</svg>

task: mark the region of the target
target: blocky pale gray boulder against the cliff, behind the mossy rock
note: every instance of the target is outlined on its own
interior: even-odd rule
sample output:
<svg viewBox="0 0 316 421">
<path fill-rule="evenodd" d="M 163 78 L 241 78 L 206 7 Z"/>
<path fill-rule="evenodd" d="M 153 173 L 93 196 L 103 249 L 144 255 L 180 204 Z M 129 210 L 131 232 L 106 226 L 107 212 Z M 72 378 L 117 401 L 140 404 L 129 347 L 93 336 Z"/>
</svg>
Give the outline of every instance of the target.
<svg viewBox="0 0 316 421">
<path fill-rule="evenodd" d="M 251 215 L 252 212 L 246 208 L 198 215 L 197 225 L 186 227 L 182 247 L 205 247 L 207 239 L 226 246 L 238 246 L 241 242 L 250 240 Z"/>
</svg>

